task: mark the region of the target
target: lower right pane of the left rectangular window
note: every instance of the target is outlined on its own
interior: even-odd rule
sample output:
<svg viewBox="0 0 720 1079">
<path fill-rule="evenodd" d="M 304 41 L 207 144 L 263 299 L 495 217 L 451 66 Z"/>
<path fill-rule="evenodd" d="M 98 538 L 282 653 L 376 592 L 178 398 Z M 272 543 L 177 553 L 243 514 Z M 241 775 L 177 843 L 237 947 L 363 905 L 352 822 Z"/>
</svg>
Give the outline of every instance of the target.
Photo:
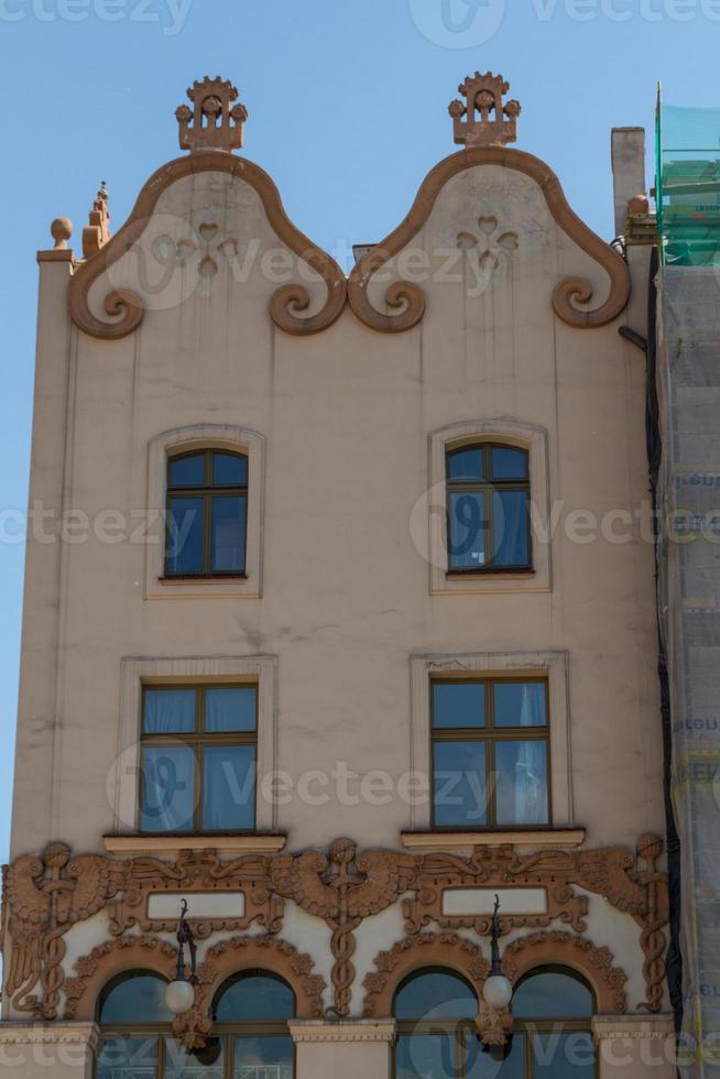
<svg viewBox="0 0 720 1079">
<path fill-rule="evenodd" d="M 254 828 L 255 746 L 209 745 L 203 758 L 203 827 Z"/>
</svg>

